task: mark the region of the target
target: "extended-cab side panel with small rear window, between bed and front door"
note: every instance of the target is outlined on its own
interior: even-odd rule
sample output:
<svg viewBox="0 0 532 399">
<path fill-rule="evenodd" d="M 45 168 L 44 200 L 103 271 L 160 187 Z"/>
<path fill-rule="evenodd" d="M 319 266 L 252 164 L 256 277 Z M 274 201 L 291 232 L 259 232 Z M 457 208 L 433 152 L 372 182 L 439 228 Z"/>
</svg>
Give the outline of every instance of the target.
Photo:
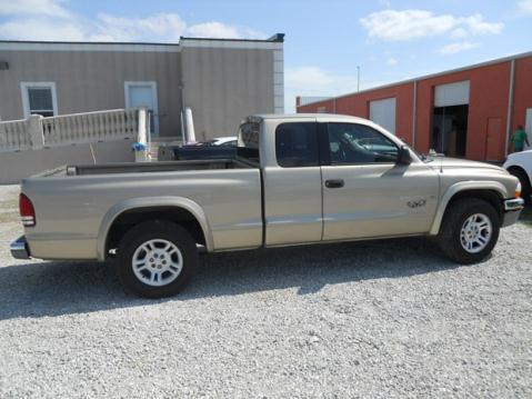
<svg viewBox="0 0 532 399">
<path fill-rule="evenodd" d="M 274 134 L 265 139 L 274 154 L 271 167 L 263 169 L 265 245 L 320 241 L 322 188 L 315 119 L 271 129 Z"/>
</svg>

